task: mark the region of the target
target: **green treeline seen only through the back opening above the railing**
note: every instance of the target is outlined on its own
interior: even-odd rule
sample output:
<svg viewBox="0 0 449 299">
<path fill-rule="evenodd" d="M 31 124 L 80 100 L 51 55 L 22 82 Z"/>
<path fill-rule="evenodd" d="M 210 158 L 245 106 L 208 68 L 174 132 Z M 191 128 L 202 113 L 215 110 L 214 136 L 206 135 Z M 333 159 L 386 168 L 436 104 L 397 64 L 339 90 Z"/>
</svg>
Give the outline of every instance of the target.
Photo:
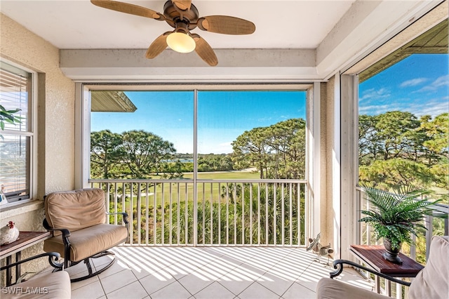
<svg viewBox="0 0 449 299">
<path fill-rule="evenodd" d="M 255 167 L 260 178 L 304 178 L 304 119 L 245 131 L 232 147 L 232 154 L 199 154 L 198 171 Z M 191 159 L 192 154 L 177 153 L 172 142 L 147 131 L 91 133 L 91 178 L 182 178 L 194 170 Z"/>
</svg>

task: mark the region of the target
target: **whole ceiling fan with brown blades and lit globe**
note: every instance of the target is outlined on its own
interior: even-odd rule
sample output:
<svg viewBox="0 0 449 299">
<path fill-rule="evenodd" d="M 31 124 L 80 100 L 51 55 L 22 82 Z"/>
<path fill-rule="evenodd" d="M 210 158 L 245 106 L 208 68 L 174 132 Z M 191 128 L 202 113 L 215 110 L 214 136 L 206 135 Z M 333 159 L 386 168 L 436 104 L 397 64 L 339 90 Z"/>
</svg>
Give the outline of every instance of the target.
<svg viewBox="0 0 449 299">
<path fill-rule="evenodd" d="M 215 66 L 218 60 L 213 49 L 199 34 L 191 33 L 190 30 L 199 27 L 203 31 L 234 35 L 255 32 L 253 22 L 241 18 L 229 15 L 200 17 L 198 9 L 192 4 L 192 0 L 168 0 L 163 6 L 163 14 L 149 8 L 120 1 L 91 0 L 91 2 L 96 6 L 113 11 L 166 21 L 168 25 L 175 28 L 173 31 L 164 32 L 153 41 L 145 55 L 149 59 L 155 58 L 169 46 L 180 53 L 189 53 L 195 50 L 208 65 Z"/>
</svg>

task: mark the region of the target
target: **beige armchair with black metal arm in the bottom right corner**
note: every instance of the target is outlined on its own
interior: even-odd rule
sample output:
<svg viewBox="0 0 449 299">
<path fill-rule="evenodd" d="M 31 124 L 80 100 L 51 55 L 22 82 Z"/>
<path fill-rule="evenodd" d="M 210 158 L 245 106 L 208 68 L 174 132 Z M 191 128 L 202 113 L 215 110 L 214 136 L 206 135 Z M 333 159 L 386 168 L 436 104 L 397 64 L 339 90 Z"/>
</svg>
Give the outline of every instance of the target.
<svg viewBox="0 0 449 299">
<path fill-rule="evenodd" d="M 429 259 L 415 279 L 410 283 L 406 281 L 398 281 L 385 274 L 375 272 L 374 270 L 357 265 L 348 260 L 335 260 L 335 272 L 330 273 L 330 277 L 336 277 L 342 272 L 344 264 L 352 265 L 368 272 L 395 281 L 399 284 L 410 286 L 408 289 L 408 298 L 410 299 L 448 299 L 449 298 L 449 237 L 434 236 L 430 245 Z M 389 298 L 363 288 L 345 284 L 342 281 L 323 278 L 320 279 L 316 286 L 316 298 L 363 298 L 363 299 L 382 299 Z"/>
</svg>

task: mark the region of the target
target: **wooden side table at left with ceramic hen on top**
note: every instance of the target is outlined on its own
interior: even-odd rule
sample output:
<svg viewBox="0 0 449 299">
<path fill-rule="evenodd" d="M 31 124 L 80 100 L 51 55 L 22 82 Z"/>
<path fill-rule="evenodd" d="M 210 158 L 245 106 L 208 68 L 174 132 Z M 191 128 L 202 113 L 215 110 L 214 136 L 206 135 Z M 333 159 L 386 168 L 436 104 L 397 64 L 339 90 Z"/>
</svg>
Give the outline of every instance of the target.
<svg viewBox="0 0 449 299">
<path fill-rule="evenodd" d="M 20 232 L 19 238 L 13 243 L 0 246 L 0 260 L 6 258 L 6 264 L 12 263 L 11 255 L 15 253 L 15 261 L 20 260 L 22 250 L 38 244 L 39 242 L 49 239 L 51 237 L 50 232 Z M 20 265 L 15 267 L 15 278 L 20 277 Z M 6 285 L 10 286 L 12 280 L 11 268 L 6 269 Z"/>
</svg>

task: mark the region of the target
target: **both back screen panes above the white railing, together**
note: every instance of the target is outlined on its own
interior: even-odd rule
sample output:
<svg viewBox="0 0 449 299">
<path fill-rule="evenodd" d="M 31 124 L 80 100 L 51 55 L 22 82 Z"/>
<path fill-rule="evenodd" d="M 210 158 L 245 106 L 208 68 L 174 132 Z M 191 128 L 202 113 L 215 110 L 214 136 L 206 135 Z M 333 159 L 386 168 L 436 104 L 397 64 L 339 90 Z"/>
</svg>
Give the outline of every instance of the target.
<svg viewBox="0 0 449 299">
<path fill-rule="evenodd" d="M 305 91 L 196 99 L 195 120 L 194 91 L 92 91 L 91 178 L 192 178 L 196 153 L 201 179 L 305 179 Z"/>
</svg>

